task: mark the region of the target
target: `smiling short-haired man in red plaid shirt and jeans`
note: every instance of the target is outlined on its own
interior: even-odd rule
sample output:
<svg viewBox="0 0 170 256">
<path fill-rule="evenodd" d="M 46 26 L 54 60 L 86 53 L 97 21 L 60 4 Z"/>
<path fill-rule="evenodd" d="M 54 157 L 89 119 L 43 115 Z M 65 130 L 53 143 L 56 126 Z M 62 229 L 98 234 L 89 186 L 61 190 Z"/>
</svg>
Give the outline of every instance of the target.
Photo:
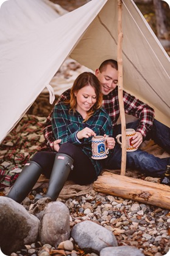
<svg viewBox="0 0 170 256">
<path fill-rule="evenodd" d="M 113 123 L 113 137 L 121 134 L 121 124 L 116 124 L 119 118 L 119 102 L 118 102 L 118 63 L 113 59 L 102 62 L 99 69 L 96 69 L 96 77 L 101 83 L 103 94 L 103 107 L 107 110 Z M 57 102 L 69 99 L 70 89 L 63 92 Z M 134 96 L 123 92 L 124 110 L 128 115 L 138 118 L 135 122 L 130 122 L 126 128 L 133 128 L 136 134 L 133 136 L 133 146 L 136 151 L 127 152 L 127 168 L 138 169 L 149 176 L 163 176 L 166 165 L 170 164 L 170 157 L 160 159 L 141 151 L 139 146 L 144 140 L 152 139 L 159 146 L 170 152 L 170 129 L 154 119 L 154 110 L 149 105 L 144 104 Z M 44 138 L 46 144 L 51 150 L 58 151 L 60 140 L 55 141 L 52 134 L 51 114 L 46 121 L 44 128 Z M 105 159 L 105 168 L 119 169 L 121 168 L 121 147 L 116 142 L 115 148 L 110 152 L 110 156 Z M 169 184 L 170 185 L 170 184 Z"/>
</svg>

